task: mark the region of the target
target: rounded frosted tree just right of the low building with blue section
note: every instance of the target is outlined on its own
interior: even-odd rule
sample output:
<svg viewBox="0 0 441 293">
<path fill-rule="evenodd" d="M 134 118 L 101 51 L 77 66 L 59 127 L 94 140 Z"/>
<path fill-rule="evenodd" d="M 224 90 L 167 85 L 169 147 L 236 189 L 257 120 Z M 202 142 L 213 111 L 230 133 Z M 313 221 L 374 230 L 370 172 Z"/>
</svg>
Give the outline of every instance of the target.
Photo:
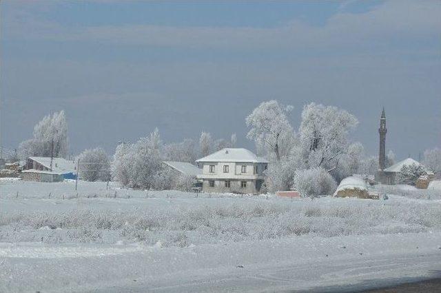
<svg viewBox="0 0 441 293">
<path fill-rule="evenodd" d="M 86 181 L 110 180 L 110 162 L 104 149 L 86 149 L 79 155 L 79 177 Z"/>
</svg>

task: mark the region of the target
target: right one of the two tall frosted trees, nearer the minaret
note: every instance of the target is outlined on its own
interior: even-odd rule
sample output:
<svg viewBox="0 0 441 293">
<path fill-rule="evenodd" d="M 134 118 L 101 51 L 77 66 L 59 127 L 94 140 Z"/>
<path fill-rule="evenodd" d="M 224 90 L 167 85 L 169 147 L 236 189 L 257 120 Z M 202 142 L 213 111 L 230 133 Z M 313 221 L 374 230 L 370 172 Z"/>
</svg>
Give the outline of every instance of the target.
<svg viewBox="0 0 441 293">
<path fill-rule="evenodd" d="M 322 167 L 331 171 L 338 168 L 340 159 L 349 149 L 349 131 L 357 124 L 355 116 L 338 107 L 314 102 L 305 105 L 298 135 L 307 169 Z"/>
</svg>

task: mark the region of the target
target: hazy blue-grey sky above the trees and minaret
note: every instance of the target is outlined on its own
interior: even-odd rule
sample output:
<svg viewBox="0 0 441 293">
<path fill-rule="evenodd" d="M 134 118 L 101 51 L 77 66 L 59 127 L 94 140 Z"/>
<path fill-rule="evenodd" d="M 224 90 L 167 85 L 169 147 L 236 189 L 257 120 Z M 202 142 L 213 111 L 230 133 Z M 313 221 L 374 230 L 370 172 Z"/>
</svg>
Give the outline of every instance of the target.
<svg viewBox="0 0 441 293">
<path fill-rule="evenodd" d="M 441 1 L 0 2 L 1 137 L 65 110 L 70 151 L 237 133 L 265 100 L 353 113 L 351 140 L 418 159 L 441 146 Z"/>
</svg>

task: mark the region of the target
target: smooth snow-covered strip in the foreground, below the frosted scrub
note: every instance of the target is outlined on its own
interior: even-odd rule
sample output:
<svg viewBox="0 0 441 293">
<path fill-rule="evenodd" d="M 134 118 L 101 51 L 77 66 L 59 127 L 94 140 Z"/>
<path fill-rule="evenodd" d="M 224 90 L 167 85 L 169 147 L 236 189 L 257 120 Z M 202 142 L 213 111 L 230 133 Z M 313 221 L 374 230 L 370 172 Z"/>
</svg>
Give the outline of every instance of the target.
<svg viewBox="0 0 441 293">
<path fill-rule="evenodd" d="M 353 291 L 438 274 L 440 247 L 439 232 L 188 248 L 1 243 L 0 291 Z"/>
</svg>

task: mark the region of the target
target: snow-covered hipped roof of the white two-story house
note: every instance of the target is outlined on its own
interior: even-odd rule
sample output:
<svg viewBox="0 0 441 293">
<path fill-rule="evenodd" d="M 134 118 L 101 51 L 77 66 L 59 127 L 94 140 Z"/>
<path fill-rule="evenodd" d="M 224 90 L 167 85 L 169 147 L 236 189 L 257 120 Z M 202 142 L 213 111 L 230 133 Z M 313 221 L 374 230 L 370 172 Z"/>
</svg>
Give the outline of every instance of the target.
<svg viewBox="0 0 441 293">
<path fill-rule="evenodd" d="M 211 155 L 196 160 L 196 162 L 241 162 L 241 163 L 267 163 L 265 158 L 258 157 L 247 149 L 227 148 L 216 151 Z"/>
</svg>

